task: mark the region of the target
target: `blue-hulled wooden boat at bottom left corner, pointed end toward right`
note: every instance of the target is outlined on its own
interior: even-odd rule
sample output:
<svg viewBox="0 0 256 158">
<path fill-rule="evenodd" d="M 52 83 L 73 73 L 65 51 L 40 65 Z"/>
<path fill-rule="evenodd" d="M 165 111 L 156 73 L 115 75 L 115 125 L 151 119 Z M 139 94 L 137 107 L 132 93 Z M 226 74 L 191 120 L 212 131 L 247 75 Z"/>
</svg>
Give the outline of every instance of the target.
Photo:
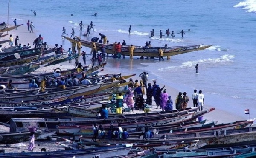
<svg viewBox="0 0 256 158">
<path fill-rule="evenodd" d="M 132 144 L 79 150 L 0 153 L 0 158 L 118 158 L 128 155 Z"/>
</svg>

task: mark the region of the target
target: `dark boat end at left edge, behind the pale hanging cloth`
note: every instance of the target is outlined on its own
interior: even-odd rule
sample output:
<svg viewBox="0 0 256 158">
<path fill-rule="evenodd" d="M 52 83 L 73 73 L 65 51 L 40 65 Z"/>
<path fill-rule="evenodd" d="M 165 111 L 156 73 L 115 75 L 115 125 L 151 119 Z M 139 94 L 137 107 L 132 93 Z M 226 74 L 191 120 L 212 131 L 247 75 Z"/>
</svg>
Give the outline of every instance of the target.
<svg viewBox="0 0 256 158">
<path fill-rule="evenodd" d="M 35 139 L 47 138 L 54 132 L 47 132 L 45 130 L 35 131 Z M 24 141 L 28 141 L 30 138 L 30 132 L 4 132 L 0 133 L 0 144 L 15 144 Z"/>
</svg>

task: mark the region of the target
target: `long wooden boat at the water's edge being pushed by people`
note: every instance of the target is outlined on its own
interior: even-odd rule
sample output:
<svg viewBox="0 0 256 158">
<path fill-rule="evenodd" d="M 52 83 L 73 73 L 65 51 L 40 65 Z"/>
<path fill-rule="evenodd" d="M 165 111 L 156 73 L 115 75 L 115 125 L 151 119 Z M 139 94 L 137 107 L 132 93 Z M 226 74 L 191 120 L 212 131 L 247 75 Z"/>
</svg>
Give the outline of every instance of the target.
<svg viewBox="0 0 256 158">
<path fill-rule="evenodd" d="M 78 39 L 74 40 L 66 36 L 62 36 L 62 37 L 69 40 L 70 42 L 75 42 L 75 43 L 78 42 Z M 92 48 L 92 42 L 88 40 L 81 40 L 81 45 Z M 106 49 L 106 53 L 115 54 L 112 49 L 113 47 L 112 44 L 96 43 L 97 49 L 100 49 L 102 45 L 104 45 Z M 174 55 L 188 53 L 192 51 L 204 50 L 206 48 L 209 48 L 210 46 L 212 45 L 188 45 L 188 46 L 160 47 L 160 48 L 163 50 L 163 56 L 174 56 Z M 123 45 L 121 47 L 121 54 L 129 56 L 128 45 Z M 158 47 L 144 48 L 141 46 L 136 46 L 136 48 L 134 49 L 134 56 L 158 57 L 158 55 L 159 55 Z"/>
</svg>

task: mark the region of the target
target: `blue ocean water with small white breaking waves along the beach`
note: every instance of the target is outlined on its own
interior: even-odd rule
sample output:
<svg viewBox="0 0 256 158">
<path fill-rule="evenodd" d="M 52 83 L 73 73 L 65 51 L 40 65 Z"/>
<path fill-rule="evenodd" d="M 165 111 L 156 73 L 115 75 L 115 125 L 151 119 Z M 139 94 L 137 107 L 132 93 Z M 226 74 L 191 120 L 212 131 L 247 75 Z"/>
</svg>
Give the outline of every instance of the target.
<svg viewBox="0 0 256 158">
<path fill-rule="evenodd" d="M 7 21 L 7 8 L 8 0 L 1 0 L 0 21 Z M 96 17 L 92 16 L 95 12 Z M 128 45 L 144 46 L 150 40 L 153 46 L 213 44 L 207 50 L 172 56 L 163 62 L 141 60 L 141 67 L 132 66 L 129 59 L 116 63 L 131 72 L 147 71 L 165 85 L 188 94 L 203 90 L 207 105 L 235 116 L 248 118 L 244 109 L 250 109 L 251 117 L 256 116 L 256 0 L 10 0 L 11 25 L 14 18 L 17 23 L 33 21 L 37 34 L 47 43 L 62 44 L 65 49 L 70 42 L 61 39 L 62 27 L 67 34 L 74 28 L 76 36 L 81 36 L 90 21 L 95 32 L 91 31 L 89 39 L 101 32 L 110 43 L 126 40 Z M 79 32 L 81 20 L 84 29 Z M 175 32 L 175 38 L 159 39 L 159 30 L 165 33 L 168 28 Z M 152 29 L 155 36 L 150 39 Z M 177 34 L 182 29 L 184 38 Z M 89 48 L 83 50 L 90 52 Z M 195 74 L 197 63 L 199 74 Z"/>
</svg>

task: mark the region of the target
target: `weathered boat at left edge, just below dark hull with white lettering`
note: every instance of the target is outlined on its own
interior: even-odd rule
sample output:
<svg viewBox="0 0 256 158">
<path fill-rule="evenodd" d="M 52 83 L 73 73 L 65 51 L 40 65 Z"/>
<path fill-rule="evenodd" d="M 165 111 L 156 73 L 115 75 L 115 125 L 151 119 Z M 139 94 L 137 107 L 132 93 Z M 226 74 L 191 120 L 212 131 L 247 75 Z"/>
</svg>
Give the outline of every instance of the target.
<svg viewBox="0 0 256 158">
<path fill-rule="evenodd" d="M 0 59 L 0 66 L 15 66 L 15 65 L 23 65 L 23 64 L 28 64 L 31 62 L 36 62 L 39 59 L 39 55 L 36 56 L 31 56 L 31 57 L 27 57 L 27 58 L 23 58 L 23 59 L 14 59 L 14 60 L 8 60 L 8 62 L 6 61 L 1 61 Z"/>
</svg>

